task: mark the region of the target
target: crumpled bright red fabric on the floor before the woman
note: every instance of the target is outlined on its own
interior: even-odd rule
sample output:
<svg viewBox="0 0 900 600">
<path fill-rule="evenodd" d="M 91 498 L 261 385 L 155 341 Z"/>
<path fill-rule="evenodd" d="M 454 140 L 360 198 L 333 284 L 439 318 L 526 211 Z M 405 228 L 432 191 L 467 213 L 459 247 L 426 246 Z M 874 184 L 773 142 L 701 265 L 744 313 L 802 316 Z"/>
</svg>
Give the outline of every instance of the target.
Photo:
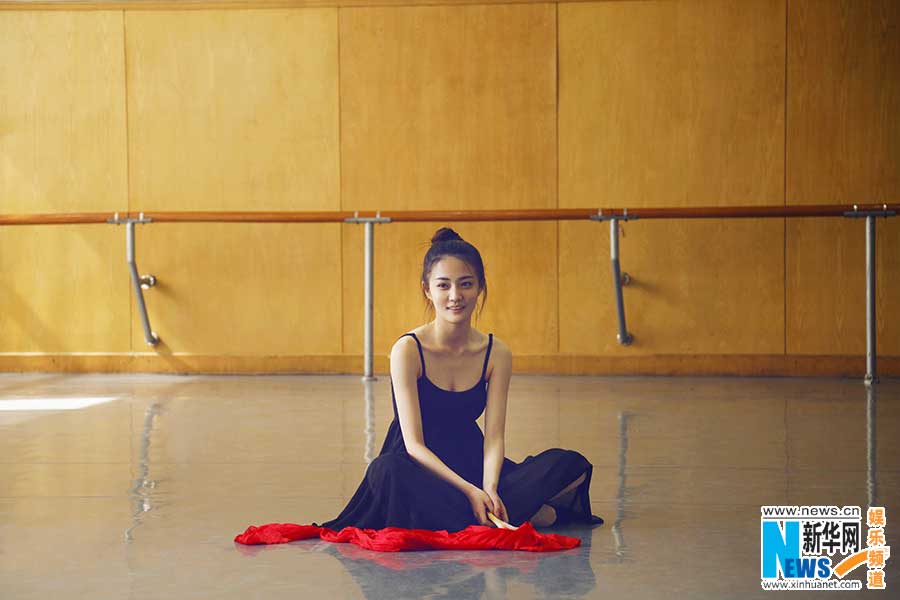
<svg viewBox="0 0 900 600">
<path fill-rule="evenodd" d="M 350 542 L 377 552 L 403 550 L 526 550 L 554 552 L 581 545 L 578 538 L 555 533 L 538 533 L 531 523 L 523 523 L 517 530 L 499 529 L 484 525 L 470 525 L 462 531 L 430 531 L 427 529 L 359 529 L 344 527 L 332 531 L 315 525 L 269 523 L 255 527 L 234 538 L 240 544 L 284 544 L 295 540 L 321 538 L 326 542 Z"/>
</svg>

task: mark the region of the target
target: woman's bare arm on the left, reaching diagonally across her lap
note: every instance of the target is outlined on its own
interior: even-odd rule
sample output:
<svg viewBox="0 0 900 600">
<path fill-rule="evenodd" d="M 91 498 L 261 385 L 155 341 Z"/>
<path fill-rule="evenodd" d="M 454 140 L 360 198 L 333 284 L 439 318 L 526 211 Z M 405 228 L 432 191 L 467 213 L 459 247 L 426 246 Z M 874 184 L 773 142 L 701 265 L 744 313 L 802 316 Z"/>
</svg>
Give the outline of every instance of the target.
<svg viewBox="0 0 900 600">
<path fill-rule="evenodd" d="M 406 452 L 429 471 L 459 489 L 467 496 L 477 486 L 460 477 L 444 461 L 428 449 L 422 434 L 422 411 L 416 379 L 419 376 L 419 352 L 412 338 L 400 338 L 391 349 L 391 381 L 397 400 L 397 416 Z"/>
</svg>

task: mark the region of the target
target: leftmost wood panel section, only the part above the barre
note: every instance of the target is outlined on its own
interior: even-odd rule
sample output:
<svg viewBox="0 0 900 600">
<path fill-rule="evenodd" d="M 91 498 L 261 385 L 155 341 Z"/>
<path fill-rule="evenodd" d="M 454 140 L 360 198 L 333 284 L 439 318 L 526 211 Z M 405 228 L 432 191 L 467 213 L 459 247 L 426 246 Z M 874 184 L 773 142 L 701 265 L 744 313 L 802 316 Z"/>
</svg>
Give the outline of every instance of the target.
<svg viewBox="0 0 900 600">
<path fill-rule="evenodd" d="M 119 12 L 3 13 L 0 213 L 127 208 L 122 45 Z"/>
</svg>

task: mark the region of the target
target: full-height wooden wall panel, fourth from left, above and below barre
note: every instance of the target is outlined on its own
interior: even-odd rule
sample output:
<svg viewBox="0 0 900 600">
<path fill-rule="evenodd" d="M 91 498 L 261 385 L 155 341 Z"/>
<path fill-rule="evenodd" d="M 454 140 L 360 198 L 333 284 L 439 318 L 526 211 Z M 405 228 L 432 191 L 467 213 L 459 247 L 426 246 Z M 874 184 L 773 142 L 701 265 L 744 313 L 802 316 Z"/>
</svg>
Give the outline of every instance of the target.
<svg viewBox="0 0 900 600">
<path fill-rule="evenodd" d="M 560 5 L 560 206 L 781 203 L 784 9 Z M 608 224 L 561 223 L 560 352 L 783 352 L 781 221 L 624 228 L 634 345 L 616 340 Z"/>
</svg>

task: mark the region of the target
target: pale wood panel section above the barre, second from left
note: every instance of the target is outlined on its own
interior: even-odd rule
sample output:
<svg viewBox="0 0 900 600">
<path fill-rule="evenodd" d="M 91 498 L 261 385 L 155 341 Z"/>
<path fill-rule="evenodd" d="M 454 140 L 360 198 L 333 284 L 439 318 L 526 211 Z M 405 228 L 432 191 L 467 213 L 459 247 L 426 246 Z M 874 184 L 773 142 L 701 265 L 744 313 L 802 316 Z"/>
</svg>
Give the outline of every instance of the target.
<svg viewBox="0 0 900 600">
<path fill-rule="evenodd" d="M 337 11 L 126 13 L 133 210 L 339 207 Z"/>
</svg>

